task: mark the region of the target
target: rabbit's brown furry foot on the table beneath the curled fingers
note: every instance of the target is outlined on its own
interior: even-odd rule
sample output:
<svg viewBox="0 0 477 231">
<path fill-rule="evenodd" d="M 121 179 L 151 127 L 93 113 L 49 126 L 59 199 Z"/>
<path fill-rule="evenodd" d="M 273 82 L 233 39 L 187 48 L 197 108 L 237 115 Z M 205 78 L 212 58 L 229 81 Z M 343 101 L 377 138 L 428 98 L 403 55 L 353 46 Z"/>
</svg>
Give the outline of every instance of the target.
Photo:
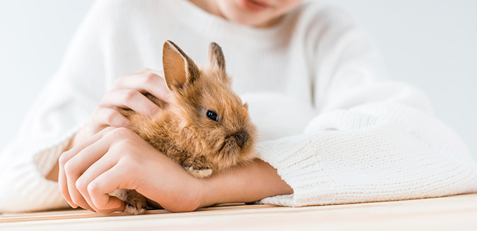
<svg viewBox="0 0 477 231">
<path fill-rule="evenodd" d="M 147 210 L 147 199 L 136 190 L 114 190 L 109 195 L 118 197 L 126 203 L 125 213 L 137 215 L 145 213 Z"/>
</svg>

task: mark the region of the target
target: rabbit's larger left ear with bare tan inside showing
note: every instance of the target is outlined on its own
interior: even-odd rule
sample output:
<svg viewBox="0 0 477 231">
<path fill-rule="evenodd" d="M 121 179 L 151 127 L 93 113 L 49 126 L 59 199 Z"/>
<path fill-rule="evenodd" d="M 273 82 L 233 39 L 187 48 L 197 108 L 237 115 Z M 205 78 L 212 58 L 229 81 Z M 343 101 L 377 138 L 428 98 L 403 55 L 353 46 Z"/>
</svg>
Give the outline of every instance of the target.
<svg viewBox="0 0 477 231">
<path fill-rule="evenodd" d="M 164 79 L 170 91 L 184 88 L 199 78 L 199 68 L 179 46 L 172 41 L 164 42 L 162 48 L 162 63 L 164 67 Z"/>
</svg>

